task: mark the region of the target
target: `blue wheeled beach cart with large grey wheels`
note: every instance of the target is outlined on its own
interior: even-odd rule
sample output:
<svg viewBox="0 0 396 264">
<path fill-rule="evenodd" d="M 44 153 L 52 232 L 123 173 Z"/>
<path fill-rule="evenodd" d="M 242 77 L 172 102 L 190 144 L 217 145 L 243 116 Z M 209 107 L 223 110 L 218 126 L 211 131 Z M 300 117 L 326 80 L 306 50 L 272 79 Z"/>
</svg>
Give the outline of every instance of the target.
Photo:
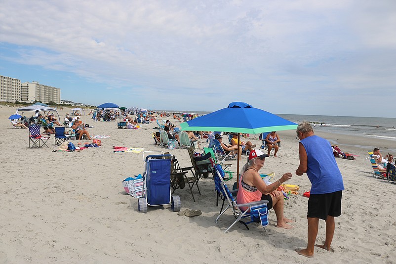
<svg viewBox="0 0 396 264">
<path fill-rule="evenodd" d="M 158 154 L 160 152 L 160 154 Z M 145 151 L 144 197 L 138 199 L 138 211 L 147 213 L 148 206 L 171 205 L 173 212 L 180 211 L 180 197 L 171 195 L 170 167 L 172 156 L 162 151 Z M 155 154 L 157 153 L 157 154 Z"/>
</svg>

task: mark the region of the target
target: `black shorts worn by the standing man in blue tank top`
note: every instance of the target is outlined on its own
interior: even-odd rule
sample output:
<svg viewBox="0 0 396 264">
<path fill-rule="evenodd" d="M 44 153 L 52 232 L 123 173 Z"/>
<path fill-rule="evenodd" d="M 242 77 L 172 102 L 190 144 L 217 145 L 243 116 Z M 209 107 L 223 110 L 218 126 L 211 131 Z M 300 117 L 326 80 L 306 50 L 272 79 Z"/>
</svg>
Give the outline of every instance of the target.
<svg viewBox="0 0 396 264">
<path fill-rule="evenodd" d="M 308 214 L 310 218 L 327 219 L 327 216 L 341 215 L 342 191 L 324 194 L 311 194 L 308 200 Z"/>
</svg>

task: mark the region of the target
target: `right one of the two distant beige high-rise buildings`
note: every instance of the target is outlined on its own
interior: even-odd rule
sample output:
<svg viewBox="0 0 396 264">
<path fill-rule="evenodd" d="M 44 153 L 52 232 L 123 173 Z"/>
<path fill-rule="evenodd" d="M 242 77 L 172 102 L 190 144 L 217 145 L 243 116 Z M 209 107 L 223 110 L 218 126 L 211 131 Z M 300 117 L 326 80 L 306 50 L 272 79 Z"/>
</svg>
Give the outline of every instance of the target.
<svg viewBox="0 0 396 264">
<path fill-rule="evenodd" d="M 39 82 L 25 82 L 21 84 L 21 100 L 27 102 L 40 101 L 42 103 L 54 102 L 60 104 L 61 89 L 40 85 Z"/>
</svg>

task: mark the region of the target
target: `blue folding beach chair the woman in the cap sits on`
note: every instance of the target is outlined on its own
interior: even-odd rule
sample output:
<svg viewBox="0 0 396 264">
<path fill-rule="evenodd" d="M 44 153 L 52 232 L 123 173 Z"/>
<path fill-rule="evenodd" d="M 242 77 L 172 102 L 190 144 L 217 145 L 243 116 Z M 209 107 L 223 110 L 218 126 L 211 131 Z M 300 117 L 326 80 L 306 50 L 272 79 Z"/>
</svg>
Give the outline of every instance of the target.
<svg viewBox="0 0 396 264">
<path fill-rule="evenodd" d="M 227 200 L 228 202 L 228 205 L 224 210 L 223 207 L 221 208 L 220 215 L 215 220 L 217 226 L 219 225 L 218 224 L 219 218 L 227 211 L 227 209 L 232 208 L 236 220 L 224 231 L 224 233 L 230 230 L 230 228 L 233 227 L 234 224 L 236 224 L 237 222 L 242 223 L 247 228 L 247 230 L 249 230 L 249 227 L 247 226 L 249 223 L 260 222 L 261 226 L 264 227 L 264 230 L 267 232 L 266 226 L 269 224 L 268 207 L 267 207 L 268 201 L 263 200 L 263 201 L 245 203 L 245 204 L 237 204 L 236 194 L 238 193 L 238 189 L 235 189 L 233 191 L 230 191 L 228 189 L 226 182 L 223 180 L 224 172 L 220 165 L 216 165 L 214 167 L 214 170 L 215 170 L 214 182 L 215 182 L 216 190 L 219 193 L 221 193 L 224 197 L 224 200 Z M 247 209 L 243 210 L 241 208 L 247 208 Z M 247 222 L 242 221 L 242 219 L 246 219 L 246 218 L 250 218 L 250 221 Z"/>
</svg>

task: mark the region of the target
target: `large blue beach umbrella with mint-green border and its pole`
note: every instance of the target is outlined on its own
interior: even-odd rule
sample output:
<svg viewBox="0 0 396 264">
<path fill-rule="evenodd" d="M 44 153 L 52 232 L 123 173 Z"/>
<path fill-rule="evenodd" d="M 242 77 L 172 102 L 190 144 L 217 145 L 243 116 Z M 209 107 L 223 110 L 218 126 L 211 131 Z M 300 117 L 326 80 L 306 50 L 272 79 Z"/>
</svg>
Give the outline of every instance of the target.
<svg viewBox="0 0 396 264">
<path fill-rule="evenodd" d="M 258 134 L 271 131 L 297 129 L 297 124 L 270 112 L 254 108 L 244 102 L 233 102 L 210 114 L 197 117 L 180 124 L 181 130 L 187 131 L 219 131 Z M 239 159 L 237 162 L 239 175 Z M 238 182 L 238 181 L 237 181 Z"/>
</svg>

